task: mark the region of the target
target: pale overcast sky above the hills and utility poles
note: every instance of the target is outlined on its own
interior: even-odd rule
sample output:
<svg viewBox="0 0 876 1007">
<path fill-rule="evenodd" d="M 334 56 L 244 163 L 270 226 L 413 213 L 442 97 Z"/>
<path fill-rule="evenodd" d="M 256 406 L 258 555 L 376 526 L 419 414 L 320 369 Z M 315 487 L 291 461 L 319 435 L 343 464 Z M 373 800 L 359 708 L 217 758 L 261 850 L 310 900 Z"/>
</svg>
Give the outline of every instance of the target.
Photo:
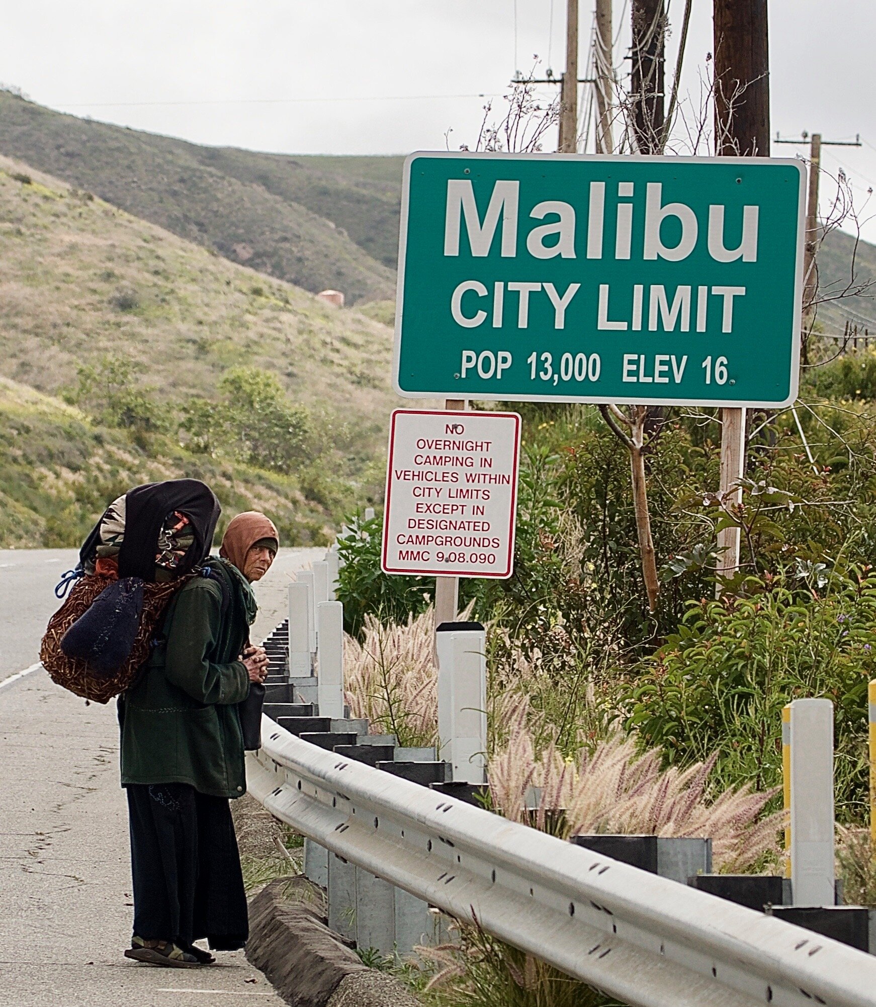
<svg viewBox="0 0 876 1007">
<path fill-rule="evenodd" d="M 581 0 L 582 64 L 591 3 Z M 699 93 L 711 8 L 694 0 L 683 92 Z M 500 96 L 535 54 L 542 69 L 562 70 L 565 9 L 565 0 L 29 0 L 5 5 L 0 81 L 54 109 L 199 143 L 408 153 L 443 149 L 452 130 L 456 148 L 476 138 L 479 96 Z M 683 9 L 670 0 L 670 63 Z M 628 16 L 628 0 L 614 0 L 620 76 Z M 773 133 L 860 133 L 864 146 L 828 147 L 823 165 L 847 171 L 867 218 L 874 41 L 873 0 L 770 2 Z M 824 212 L 835 186 L 826 178 L 822 188 Z M 864 234 L 876 242 L 876 220 Z"/>
</svg>

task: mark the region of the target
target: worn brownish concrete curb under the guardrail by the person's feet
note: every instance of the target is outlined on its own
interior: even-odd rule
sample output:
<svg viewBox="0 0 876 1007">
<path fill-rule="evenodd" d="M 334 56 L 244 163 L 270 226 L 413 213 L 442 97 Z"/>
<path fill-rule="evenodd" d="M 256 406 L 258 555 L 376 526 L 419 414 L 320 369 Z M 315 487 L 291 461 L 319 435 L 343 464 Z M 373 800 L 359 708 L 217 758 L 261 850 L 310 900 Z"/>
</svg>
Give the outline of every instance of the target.
<svg viewBox="0 0 876 1007">
<path fill-rule="evenodd" d="M 403 983 L 367 968 L 350 942 L 328 928 L 318 907 L 290 899 L 290 882 L 277 878 L 251 900 L 247 942 L 248 961 L 288 1004 L 418 1007 Z"/>
</svg>

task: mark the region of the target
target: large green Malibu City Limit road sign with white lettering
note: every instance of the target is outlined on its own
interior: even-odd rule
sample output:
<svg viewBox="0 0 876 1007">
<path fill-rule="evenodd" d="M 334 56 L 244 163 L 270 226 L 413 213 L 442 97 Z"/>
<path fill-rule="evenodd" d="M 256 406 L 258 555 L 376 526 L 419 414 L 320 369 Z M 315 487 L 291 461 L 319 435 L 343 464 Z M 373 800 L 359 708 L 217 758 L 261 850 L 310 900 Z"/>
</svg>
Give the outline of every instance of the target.
<svg viewBox="0 0 876 1007">
<path fill-rule="evenodd" d="M 805 187 L 777 158 L 412 154 L 396 390 L 786 406 Z"/>
</svg>

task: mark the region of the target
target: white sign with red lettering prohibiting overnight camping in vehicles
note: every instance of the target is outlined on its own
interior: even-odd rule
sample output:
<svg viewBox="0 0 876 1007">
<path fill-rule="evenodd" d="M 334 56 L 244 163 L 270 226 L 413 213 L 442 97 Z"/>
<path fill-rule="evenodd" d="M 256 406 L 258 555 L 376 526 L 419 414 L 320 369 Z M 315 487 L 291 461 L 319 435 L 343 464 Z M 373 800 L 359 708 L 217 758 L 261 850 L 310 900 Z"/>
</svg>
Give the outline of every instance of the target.
<svg viewBox="0 0 876 1007">
<path fill-rule="evenodd" d="M 520 443 L 517 413 L 395 410 L 384 572 L 510 577 Z"/>
</svg>

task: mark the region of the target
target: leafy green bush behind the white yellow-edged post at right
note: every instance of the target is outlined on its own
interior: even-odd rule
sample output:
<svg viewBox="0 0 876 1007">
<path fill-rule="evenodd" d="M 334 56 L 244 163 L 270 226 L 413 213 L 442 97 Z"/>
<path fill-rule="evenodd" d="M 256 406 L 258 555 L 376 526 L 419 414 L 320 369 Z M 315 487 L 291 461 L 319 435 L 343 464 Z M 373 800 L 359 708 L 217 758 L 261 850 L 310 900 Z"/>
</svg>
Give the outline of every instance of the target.
<svg viewBox="0 0 876 1007">
<path fill-rule="evenodd" d="M 798 561 L 751 578 L 748 596 L 691 601 L 677 632 L 621 696 L 626 727 L 690 764 L 717 751 L 725 784 L 781 779 L 781 708 L 825 697 L 836 709 L 836 787 L 846 819 L 867 805 L 867 683 L 876 672 L 876 576 Z"/>
</svg>

